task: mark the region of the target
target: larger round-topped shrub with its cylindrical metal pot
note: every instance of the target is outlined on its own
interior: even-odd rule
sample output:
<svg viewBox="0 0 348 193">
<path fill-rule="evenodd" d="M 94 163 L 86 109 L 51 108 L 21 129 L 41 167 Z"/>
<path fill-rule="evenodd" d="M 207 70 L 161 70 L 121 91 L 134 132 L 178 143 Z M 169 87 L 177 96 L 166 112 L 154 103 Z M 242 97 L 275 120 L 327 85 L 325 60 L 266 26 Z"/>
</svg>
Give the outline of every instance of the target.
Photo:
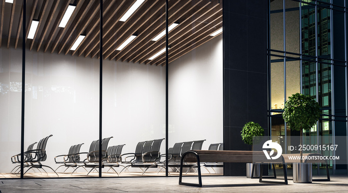
<svg viewBox="0 0 348 193">
<path fill-rule="evenodd" d="M 320 118 L 320 105 L 312 96 L 300 93 L 293 94 L 284 105 L 283 119 L 291 130 L 300 131 L 300 145 L 303 145 L 303 130 L 309 130 Z M 312 164 L 302 163 L 302 150 L 300 162 L 293 163 L 294 183 L 312 182 Z M 306 176 L 299 176 L 300 174 Z"/>
</svg>

